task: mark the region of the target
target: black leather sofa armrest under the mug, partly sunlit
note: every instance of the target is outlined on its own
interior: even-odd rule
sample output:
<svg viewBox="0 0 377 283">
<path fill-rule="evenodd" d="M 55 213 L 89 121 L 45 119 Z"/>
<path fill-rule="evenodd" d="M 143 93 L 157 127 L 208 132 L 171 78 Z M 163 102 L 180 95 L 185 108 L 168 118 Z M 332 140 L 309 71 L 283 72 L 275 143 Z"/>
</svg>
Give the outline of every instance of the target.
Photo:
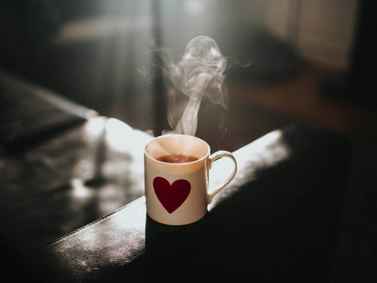
<svg viewBox="0 0 377 283">
<path fill-rule="evenodd" d="M 276 130 L 234 152 L 239 171 L 199 222 L 159 224 L 141 197 L 33 258 L 61 282 L 328 282 L 349 153 L 322 129 Z M 227 162 L 214 164 L 212 183 L 232 169 Z"/>
</svg>

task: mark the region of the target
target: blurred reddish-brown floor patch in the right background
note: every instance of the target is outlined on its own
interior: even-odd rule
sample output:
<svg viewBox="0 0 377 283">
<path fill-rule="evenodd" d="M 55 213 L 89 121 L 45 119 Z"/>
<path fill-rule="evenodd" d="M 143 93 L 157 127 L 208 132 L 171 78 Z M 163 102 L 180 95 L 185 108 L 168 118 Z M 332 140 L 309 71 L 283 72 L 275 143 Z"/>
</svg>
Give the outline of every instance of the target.
<svg viewBox="0 0 377 283">
<path fill-rule="evenodd" d="M 371 126 L 376 113 L 342 100 L 326 98 L 320 83 L 333 72 L 310 65 L 290 81 L 278 85 L 232 85 L 232 96 L 240 103 L 290 115 L 308 123 L 322 125 L 346 134 L 357 134 Z"/>
</svg>

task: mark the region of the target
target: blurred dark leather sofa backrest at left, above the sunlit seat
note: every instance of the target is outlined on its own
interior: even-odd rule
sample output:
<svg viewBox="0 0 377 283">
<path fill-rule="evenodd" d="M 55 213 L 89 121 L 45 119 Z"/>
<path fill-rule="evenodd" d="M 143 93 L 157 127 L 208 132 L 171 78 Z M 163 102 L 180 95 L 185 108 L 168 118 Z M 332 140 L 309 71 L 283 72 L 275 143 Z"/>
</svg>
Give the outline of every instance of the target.
<svg viewBox="0 0 377 283">
<path fill-rule="evenodd" d="M 0 70 L 0 144 L 17 151 L 97 113 Z"/>
</svg>

